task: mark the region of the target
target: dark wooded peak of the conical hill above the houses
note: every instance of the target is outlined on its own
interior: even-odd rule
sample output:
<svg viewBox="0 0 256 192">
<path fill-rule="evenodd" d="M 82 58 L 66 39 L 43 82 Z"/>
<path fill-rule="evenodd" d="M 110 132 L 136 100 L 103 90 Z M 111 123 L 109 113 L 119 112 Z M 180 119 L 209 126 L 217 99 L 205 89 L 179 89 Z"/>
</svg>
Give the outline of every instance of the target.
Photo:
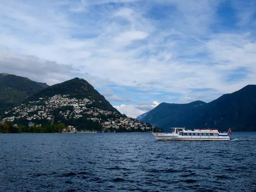
<svg viewBox="0 0 256 192">
<path fill-rule="evenodd" d="M 92 100 L 91 107 L 118 112 L 118 110 L 114 108 L 103 95 L 96 91 L 91 84 L 86 80 L 77 77 L 63 83 L 47 87 L 46 89 L 29 97 L 26 101 L 35 101 L 38 100 L 38 98 L 45 99 L 54 95 L 69 95 L 68 97 L 76 99 L 87 98 Z"/>
</svg>

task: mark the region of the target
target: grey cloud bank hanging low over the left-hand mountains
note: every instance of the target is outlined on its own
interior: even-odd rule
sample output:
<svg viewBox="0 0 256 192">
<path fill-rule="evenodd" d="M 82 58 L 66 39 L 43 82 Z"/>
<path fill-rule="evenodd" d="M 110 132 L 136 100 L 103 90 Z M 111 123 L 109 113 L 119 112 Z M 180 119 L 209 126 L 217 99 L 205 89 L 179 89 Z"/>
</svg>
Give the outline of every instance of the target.
<svg viewBox="0 0 256 192">
<path fill-rule="evenodd" d="M 48 84 L 60 83 L 68 80 L 70 76 L 79 74 L 79 70 L 71 65 L 60 65 L 54 61 L 21 55 L 8 50 L 0 50 L 0 71 Z"/>
</svg>

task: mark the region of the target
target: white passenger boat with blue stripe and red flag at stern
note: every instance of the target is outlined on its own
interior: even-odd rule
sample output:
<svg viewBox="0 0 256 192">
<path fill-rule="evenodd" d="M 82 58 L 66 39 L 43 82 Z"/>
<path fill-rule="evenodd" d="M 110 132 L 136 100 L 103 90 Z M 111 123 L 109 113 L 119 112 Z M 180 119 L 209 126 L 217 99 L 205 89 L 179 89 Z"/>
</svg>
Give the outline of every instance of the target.
<svg viewBox="0 0 256 192">
<path fill-rule="evenodd" d="M 228 141 L 227 132 L 219 132 L 217 129 L 194 129 L 185 130 L 184 128 L 171 128 L 171 133 L 154 133 L 152 134 L 157 140 L 207 140 L 207 141 Z M 231 129 L 228 130 L 231 134 Z"/>
</svg>

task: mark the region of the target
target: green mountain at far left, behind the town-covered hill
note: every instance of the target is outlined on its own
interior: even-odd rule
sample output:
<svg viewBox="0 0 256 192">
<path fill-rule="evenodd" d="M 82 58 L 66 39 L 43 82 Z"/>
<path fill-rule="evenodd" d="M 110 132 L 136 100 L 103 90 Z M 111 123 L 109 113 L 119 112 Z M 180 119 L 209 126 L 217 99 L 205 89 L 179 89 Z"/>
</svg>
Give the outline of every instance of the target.
<svg viewBox="0 0 256 192">
<path fill-rule="evenodd" d="M 27 77 L 0 73 L 0 110 L 17 105 L 46 87 L 49 85 Z"/>
</svg>

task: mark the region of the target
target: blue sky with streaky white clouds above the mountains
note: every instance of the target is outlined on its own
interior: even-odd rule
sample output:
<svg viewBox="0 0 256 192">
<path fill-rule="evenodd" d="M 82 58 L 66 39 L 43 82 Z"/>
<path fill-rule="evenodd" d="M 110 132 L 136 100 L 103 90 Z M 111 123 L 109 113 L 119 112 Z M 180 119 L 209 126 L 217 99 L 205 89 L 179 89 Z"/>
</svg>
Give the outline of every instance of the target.
<svg viewBox="0 0 256 192">
<path fill-rule="evenodd" d="M 0 73 L 84 78 L 131 117 L 256 84 L 255 0 L 1 0 Z"/>
</svg>

